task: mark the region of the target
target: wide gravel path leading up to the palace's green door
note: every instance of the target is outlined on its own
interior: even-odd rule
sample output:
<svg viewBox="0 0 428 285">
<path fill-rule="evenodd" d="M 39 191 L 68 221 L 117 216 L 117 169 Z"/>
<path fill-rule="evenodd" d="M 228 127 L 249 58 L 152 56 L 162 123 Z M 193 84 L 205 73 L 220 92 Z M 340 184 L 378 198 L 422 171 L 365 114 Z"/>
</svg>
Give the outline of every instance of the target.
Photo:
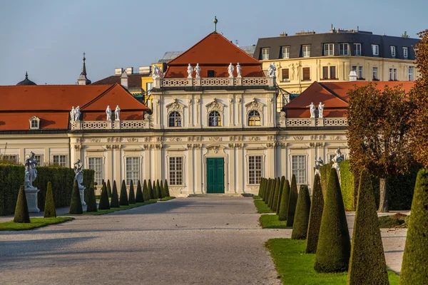
<svg viewBox="0 0 428 285">
<path fill-rule="evenodd" d="M 1 284 L 280 284 L 252 198 L 183 198 L 0 232 Z"/>
</svg>

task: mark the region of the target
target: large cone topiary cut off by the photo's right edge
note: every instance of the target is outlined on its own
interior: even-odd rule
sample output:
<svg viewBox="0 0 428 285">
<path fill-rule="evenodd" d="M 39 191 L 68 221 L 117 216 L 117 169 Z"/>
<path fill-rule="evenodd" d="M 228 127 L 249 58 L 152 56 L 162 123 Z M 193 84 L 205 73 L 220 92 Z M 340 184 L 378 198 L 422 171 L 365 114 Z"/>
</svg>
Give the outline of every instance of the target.
<svg viewBox="0 0 428 285">
<path fill-rule="evenodd" d="M 419 170 L 399 284 L 427 284 L 428 280 L 428 169 Z"/>
</svg>

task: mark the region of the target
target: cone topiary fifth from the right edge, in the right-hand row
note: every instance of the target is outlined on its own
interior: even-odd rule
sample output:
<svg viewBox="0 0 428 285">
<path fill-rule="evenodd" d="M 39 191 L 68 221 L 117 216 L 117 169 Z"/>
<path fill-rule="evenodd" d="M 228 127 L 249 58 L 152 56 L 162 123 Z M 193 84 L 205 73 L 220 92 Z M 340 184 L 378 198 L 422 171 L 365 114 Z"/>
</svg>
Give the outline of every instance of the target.
<svg viewBox="0 0 428 285">
<path fill-rule="evenodd" d="M 310 195 L 307 185 L 300 185 L 297 197 L 295 220 L 292 225 L 291 239 L 306 239 L 309 224 Z"/>
</svg>

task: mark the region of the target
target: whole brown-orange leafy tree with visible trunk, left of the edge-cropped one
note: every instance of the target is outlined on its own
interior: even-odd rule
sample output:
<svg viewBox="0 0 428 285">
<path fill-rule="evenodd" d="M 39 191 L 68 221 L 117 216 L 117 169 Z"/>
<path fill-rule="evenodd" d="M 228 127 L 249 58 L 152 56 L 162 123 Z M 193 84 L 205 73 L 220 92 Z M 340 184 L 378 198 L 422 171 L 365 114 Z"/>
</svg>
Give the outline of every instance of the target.
<svg viewBox="0 0 428 285">
<path fill-rule="evenodd" d="M 379 177 L 379 212 L 388 212 L 387 178 L 403 174 L 413 162 L 409 148 L 412 103 L 401 86 L 376 84 L 350 90 L 347 140 L 352 171 L 365 167 Z"/>
</svg>

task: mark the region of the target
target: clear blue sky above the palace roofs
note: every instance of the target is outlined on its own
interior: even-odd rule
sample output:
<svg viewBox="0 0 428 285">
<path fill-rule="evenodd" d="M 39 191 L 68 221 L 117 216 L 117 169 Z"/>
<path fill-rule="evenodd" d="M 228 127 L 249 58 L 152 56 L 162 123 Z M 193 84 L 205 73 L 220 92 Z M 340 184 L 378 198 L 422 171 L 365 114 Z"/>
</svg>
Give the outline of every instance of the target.
<svg viewBox="0 0 428 285">
<path fill-rule="evenodd" d="M 148 66 L 213 31 L 240 46 L 258 38 L 336 28 L 412 38 L 428 28 L 427 0 L 138 1 L 0 0 L 0 85 L 25 72 L 38 84 L 74 84 L 86 52 L 88 78 Z"/>
</svg>

